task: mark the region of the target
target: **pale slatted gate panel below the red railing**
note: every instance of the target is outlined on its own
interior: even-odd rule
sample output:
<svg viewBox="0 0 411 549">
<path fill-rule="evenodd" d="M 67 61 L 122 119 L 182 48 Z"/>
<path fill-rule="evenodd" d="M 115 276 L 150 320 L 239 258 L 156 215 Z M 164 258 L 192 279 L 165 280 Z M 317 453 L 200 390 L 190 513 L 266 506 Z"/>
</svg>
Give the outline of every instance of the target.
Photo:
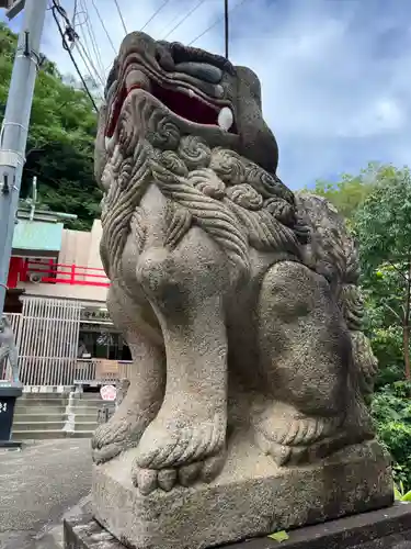
<svg viewBox="0 0 411 549">
<path fill-rule="evenodd" d="M 78 301 L 22 298 L 15 335 L 20 379 L 25 385 L 71 385 L 80 329 Z"/>
</svg>

